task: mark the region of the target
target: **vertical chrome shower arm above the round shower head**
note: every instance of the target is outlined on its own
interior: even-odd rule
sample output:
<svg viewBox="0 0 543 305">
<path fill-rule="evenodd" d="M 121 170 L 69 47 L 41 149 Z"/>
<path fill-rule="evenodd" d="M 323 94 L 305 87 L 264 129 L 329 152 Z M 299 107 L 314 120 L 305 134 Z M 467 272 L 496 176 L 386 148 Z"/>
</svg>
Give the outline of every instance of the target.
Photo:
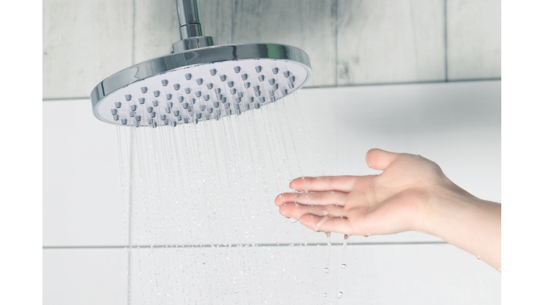
<svg viewBox="0 0 543 305">
<path fill-rule="evenodd" d="M 175 5 L 181 40 L 172 44 L 170 54 L 218 44 L 216 37 L 204 33 L 199 0 L 175 0 Z"/>
</svg>

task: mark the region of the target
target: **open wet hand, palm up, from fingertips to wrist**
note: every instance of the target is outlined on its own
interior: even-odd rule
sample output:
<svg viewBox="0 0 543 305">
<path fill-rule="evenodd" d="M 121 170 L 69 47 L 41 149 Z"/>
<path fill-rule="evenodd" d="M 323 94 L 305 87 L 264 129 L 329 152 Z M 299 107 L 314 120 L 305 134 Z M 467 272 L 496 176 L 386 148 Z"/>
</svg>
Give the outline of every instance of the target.
<svg viewBox="0 0 543 305">
<path fill-rule="evenodd" d="M 275 199 L 279 213 L 315 231 L 369 236 L 424 231 L 428 200 L 440 185 L 452 184 L 436 163 L 424 157 L 373 149 L 369 176 L 303 177 Z"/>
</svg>

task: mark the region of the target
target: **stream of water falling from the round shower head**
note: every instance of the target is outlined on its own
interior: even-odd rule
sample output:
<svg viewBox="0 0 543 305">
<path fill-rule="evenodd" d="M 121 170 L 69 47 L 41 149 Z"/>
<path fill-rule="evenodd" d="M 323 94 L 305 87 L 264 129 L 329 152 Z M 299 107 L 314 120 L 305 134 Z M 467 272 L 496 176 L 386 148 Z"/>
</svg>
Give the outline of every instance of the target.
<svg viewBox="0 0 543 305">
<path fill-rule="evenodd" d="M 313 247 L 322 235 L 285 222 L 274 205 L 293 178 L 325 175 L 296 92 L 219 120 L 156 121 L 116 127 L 130 303 L 323 304 L 343 296 L 329 283 L 330 270 L 346 266 L 347 235 L 335 268 L 330 233 L 327 247 Z"/>
</svg>

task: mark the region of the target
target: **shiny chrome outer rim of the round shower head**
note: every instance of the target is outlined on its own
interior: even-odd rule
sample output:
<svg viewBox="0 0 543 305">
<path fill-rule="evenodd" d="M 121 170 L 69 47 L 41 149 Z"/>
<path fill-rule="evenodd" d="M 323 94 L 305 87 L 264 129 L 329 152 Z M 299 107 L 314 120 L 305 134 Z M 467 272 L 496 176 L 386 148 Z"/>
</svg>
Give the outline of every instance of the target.
<svg viewBox="0 0 543 305">
<path fill-rule="evenodd" d="M 221 44 L 168 54 L 124 68 L 112 74 L 112 76 L 105 78 L 95 86 L 91 92 L 92 106 L 95 109 L 100 100 L 103 100 L 108 95 L 146 78 L 190 66 L 243 59 L 293 61 L 301 64 L 308 71 L 307 80 L 311 76 L 309 56 L 297 47 L 287 44 Z M 137 76 L 138 74 L 140 75 Z"/>
</svg>

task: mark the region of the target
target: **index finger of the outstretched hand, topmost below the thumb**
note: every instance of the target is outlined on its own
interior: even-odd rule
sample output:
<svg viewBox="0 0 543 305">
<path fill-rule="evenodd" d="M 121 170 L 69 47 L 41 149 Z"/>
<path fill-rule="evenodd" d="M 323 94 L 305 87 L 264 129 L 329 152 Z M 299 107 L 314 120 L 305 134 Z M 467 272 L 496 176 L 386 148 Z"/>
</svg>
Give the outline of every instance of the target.
<svg viewBox="0 0 543 305">
<path fill-rule="evenodd" d="M 288 184 L 296 191 L 340 191 L 349 193 L 356 176 L 300 177 Z"/>
</svg>

